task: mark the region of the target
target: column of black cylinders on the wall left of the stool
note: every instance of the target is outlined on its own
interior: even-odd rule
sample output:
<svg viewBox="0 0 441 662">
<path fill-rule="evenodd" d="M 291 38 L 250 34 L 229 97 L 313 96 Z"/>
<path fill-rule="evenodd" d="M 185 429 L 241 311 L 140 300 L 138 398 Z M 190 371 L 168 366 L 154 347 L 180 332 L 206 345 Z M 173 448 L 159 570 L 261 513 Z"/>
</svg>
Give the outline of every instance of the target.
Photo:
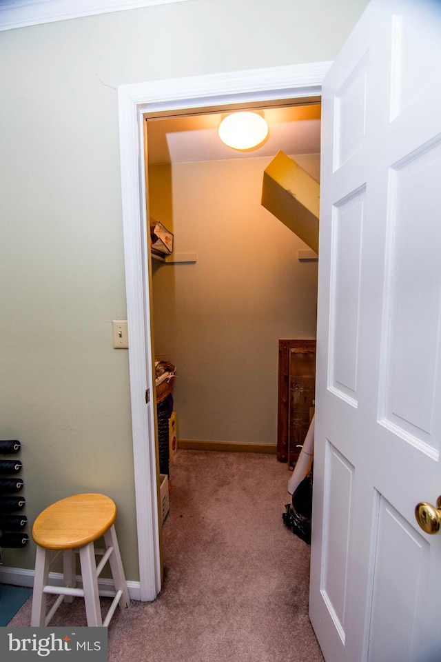
<svg viewBox="0 0 441 662">
<path fill-rule="evenodd" d="M 23 532 L 28 518 L 23 514 L 26 500 L 21 494 L 23 465 L 17 455 L 21 443 L 0 441 L 0 548 L 23 548 L 29 536 Z"/>
</svg>

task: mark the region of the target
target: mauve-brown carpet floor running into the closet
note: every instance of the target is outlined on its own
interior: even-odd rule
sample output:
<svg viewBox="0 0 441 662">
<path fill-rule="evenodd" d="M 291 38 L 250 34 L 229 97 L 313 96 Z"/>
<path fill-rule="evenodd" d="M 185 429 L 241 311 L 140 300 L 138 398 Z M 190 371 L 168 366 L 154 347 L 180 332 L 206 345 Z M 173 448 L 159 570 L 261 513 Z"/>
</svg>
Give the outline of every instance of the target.
<svg viewBox="0 0 441 662">
<path fill-rule="evenodd" d="M 288 478 L 274 455 L 177 452 L 163 590 L 116 610 L 109 662 L 323 661 L 308 617 L 309 546 L 282 521 Z M 30 625 L 30 608 L 10 625 Z M 83 601 L 61 605 L 51 625 L 86 625 Z"/>
</svg>

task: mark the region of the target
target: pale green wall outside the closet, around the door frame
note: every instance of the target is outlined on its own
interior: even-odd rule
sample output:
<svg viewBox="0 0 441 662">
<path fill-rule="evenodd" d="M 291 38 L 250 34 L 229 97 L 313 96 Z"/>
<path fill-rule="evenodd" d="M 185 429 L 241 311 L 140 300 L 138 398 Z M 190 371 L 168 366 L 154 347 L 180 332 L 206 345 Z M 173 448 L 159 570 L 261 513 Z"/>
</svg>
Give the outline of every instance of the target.
<svg viewBox="0 0 441 662">
<path fill-rule="evenodd" d="M 139 574 L 127 352 L 112 349 L 126 314 L 117 88 L 333 59 L 365 5 L 192 0 L 0 33 L 0 437 L 24 444 L 31 521 L 72 492 L 116 499 L 127 579 Z M 3 562 L 32 568 L 34 548 Z"/>
</svg>

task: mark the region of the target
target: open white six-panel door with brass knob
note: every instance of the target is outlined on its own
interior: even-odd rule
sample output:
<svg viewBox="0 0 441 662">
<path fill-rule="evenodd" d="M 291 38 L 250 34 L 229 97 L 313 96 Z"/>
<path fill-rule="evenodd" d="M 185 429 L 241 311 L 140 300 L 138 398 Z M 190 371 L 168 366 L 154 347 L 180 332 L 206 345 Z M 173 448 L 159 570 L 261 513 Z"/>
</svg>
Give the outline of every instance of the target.
<svg viewBox="0 0 441 662">
<path fill-rule="evenodd" d="M 327 662 L 439 662 L 441 3 L 373 0 L 322 111 L 311 622 Z"/>
</svg>

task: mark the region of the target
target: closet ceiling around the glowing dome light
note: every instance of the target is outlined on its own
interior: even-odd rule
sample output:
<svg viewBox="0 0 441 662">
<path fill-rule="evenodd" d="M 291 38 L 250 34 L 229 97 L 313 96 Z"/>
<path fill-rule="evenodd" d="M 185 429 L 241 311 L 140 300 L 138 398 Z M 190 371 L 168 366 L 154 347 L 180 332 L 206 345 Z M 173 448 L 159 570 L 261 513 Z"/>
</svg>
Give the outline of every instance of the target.
<svg viewBox="0 0 441 662">
<path fill-rule="evenodd" d="M 218 137 L 221 112 L 147 119 L 147 154 L 150 165 L 189 163 L 285 154 L 320 154 L 320 104 L 263 109 L 269 138 L 254 150 L 240 152 Z"/>
</svg>

